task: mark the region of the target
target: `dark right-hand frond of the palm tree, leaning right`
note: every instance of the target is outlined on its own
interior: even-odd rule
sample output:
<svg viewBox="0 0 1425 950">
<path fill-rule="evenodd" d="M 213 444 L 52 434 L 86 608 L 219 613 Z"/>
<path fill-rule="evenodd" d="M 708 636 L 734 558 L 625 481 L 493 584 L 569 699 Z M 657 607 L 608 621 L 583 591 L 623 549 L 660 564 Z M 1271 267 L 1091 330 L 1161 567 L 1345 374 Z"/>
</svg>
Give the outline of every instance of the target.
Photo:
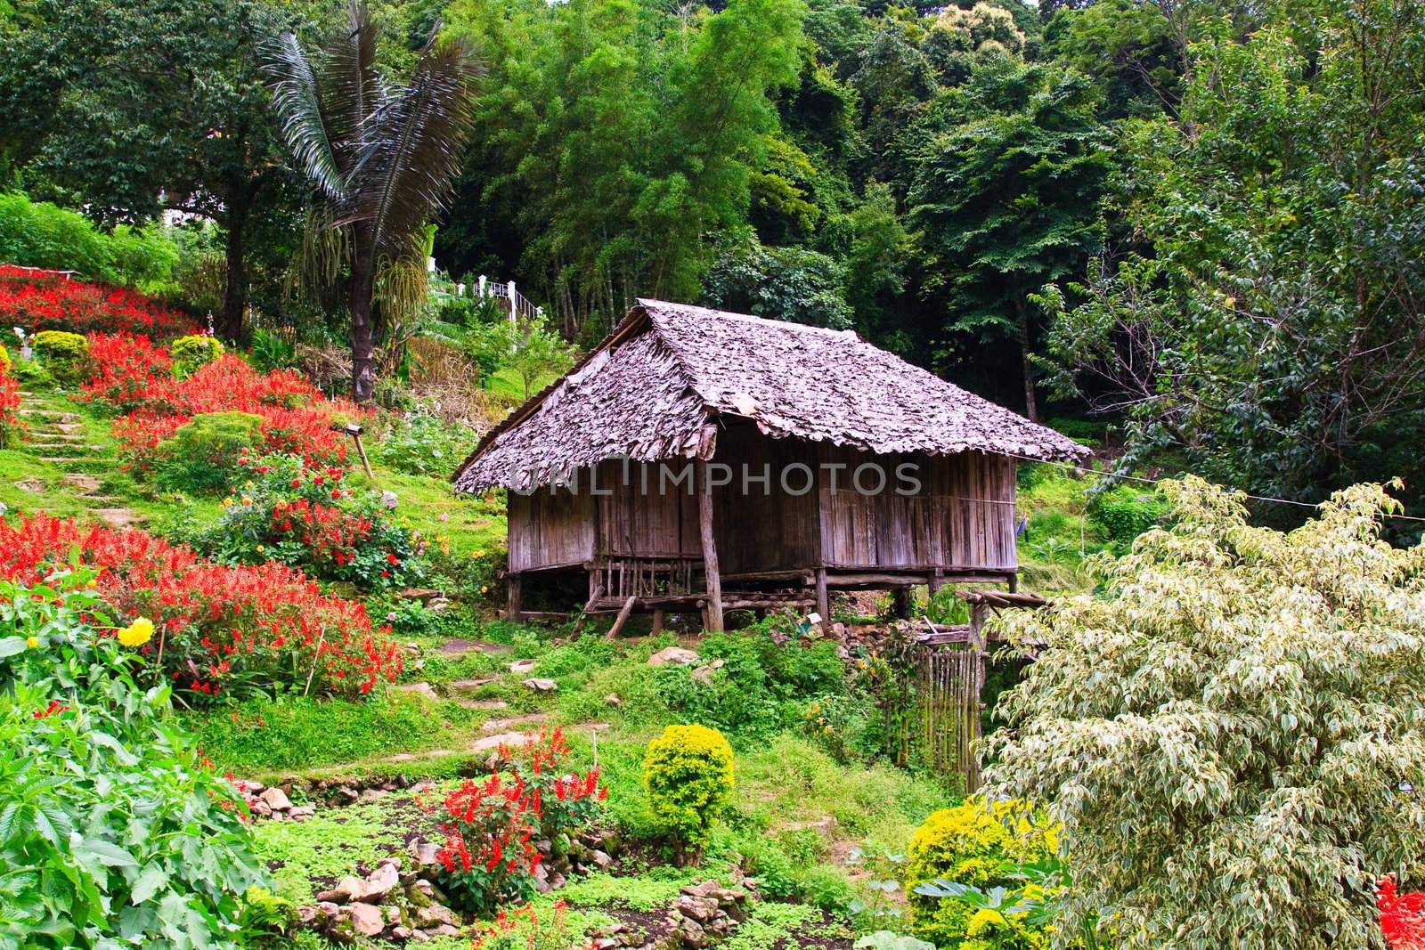
<svg viewBox="0 0 1425 950">
<path fill-rule="evenodd" d="M 479 64 L 457 41 L 428 47 L 409 85 L 393 91 L 362 128 L 352 178 L 355 211 L 370 221 L 392 259 L 415 256 L 426 222 L 442 208 L 472 131 L 470 81 Z"/>
</svg>

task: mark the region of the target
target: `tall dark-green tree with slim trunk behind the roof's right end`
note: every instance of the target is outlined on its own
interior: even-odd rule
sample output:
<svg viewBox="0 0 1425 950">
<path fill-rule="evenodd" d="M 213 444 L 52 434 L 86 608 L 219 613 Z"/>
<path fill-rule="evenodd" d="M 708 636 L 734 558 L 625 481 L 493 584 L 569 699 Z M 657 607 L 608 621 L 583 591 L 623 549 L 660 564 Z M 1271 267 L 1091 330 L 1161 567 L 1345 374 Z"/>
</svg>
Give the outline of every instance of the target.
<svg viewBox="0 0 1425 950">
<path fill-rule="evenodd" d="M 1015 339 L 1030 419 L 1030 293 L 1099 251 L 1109 154 L 1094 105 L 1077 73 L 993 57 L 938 104 L 918 155 L 911 218 L 925 293 L 946 313 L 936 356 L 946 365 L 966 340 Z"/>
</svg>

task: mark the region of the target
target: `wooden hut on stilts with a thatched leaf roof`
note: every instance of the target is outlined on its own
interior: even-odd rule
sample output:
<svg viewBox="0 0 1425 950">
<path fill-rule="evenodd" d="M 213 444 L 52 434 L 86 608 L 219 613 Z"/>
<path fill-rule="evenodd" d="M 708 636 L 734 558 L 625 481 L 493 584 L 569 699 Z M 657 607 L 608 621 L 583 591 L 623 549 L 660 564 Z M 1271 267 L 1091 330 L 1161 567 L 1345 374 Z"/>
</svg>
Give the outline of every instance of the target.
<svg viewBox="0 0 1425 950">
<path fill-rule="evenodd" d="M 640 301 L 455 483 L 509 489 L 512 615 L 543 587 L 720 630 L 835 588 L 1013 588 L 1016 461 L 1082 454 L 851 330 Z"/>
</svg>

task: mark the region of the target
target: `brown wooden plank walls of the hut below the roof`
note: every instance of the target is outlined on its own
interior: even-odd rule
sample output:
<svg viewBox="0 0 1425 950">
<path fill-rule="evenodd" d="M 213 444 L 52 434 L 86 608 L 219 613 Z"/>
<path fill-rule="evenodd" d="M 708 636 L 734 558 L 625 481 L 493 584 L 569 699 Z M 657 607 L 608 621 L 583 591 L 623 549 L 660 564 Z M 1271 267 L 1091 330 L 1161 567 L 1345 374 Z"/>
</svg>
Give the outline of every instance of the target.
<svg viewBox="0 0 1425 950">
<path fill-rule="evenodd" d="M 979 451 L 955 456 L 876 456 L 846 446 L 771 439 L 751 424 L 727 424 L 718 434 L 715 463 L 732 467 L 732 483 L 714 491 L 714 533 L 724 574 L 832 570 L 932 570 L 1009 573 L 1015 553 L 1015 460 Z M 876 494 L 856 491 L 852 476 L 868 461 L 888 476 Z M 802 463 L 817 487 L 788 493 L 781 473 Z M 896 494 L 896 467 L 915 464 L 919 491 Z M 684 460 L 667 463 L 606 461 L 598 494 L 589 471 L 579 493 L 540 489 L 510 493 L 509 553 L 514 573 L 573 567 L 613 558 L 693 558 L 701 561 L 697 497 L 687 483 L 664 484 L 660 467 L 674 474 Z M 770 466 L 770 483 L 748 484 Z M 826 466 L 841 464 L 835 489 Z M 869 470 L 866 473 L 869 476 Z M 799 484 L 802 473 L 789 479 Z M 874 487 L 876 479 L 862 480 Z M 647 486 L 647 489 L 644 487 Z M 607 494 L 604 494 L 607 493 Z"/>
</svg>

